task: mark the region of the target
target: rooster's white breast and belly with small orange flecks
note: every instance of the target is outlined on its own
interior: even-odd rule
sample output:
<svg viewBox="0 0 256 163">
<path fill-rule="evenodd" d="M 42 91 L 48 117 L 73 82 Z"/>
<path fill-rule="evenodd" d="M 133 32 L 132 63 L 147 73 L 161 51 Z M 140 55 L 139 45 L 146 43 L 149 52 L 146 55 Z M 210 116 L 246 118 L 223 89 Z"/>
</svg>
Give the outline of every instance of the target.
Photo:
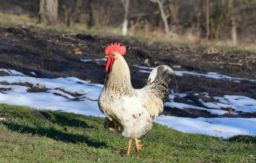
<svg viewBox="0 0 256 163">
<path fill-rule="evenodd" d="M 139 138 L 152 126 L 148 111 L 137 96 L 115 96 L 103 90 L 98 104 L 102 113 L 118 126 L 126 138 Z"/>
</svg>

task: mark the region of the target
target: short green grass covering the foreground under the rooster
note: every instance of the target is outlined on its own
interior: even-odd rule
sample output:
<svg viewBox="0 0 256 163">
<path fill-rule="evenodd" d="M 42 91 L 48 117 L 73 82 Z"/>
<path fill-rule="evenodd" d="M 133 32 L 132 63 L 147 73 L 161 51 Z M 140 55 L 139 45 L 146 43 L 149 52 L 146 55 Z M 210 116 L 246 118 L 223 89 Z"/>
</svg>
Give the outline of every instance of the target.
<svg viewBox="0 0 256 163">
<path fill-rule="evenodd" d="M 180 162 L 252 163 L 256 138 L 221 139 L 187 134 L 160 124 L 142 138 L 142 152 L 125 156 L 128 141 L 103 127 L 104 119 L 47 110 L 50 121 L 35 118 L 35 109 L 0 104 L 0 162 Z M 71 121 L 70 121 L 71 120 Z"/>
</svg>

